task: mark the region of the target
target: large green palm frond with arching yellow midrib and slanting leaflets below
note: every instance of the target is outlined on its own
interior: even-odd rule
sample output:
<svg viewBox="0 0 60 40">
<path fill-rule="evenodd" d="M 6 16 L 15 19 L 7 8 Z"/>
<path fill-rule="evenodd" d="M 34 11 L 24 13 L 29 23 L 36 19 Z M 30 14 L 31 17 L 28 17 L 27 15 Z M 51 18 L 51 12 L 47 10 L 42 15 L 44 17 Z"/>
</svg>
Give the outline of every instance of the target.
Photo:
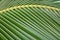
<svg viewBox="0 0 60 40">
<path fill-rule="evenodd" d="M 1 40 L 60 40 L 60 9 L 23 5 L 0 11 Z"/>
</svg>

